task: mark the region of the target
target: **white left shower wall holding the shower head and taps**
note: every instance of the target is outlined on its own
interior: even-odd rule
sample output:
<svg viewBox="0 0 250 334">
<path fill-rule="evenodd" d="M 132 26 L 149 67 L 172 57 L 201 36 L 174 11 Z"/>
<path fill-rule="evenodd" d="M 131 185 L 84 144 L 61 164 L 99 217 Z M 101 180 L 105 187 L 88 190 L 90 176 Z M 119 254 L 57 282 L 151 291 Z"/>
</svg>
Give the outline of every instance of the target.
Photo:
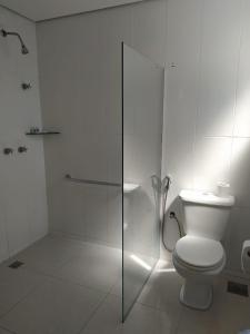
<svg viewBox="0 0 250 334">
<path fill-rule="evenodd" d="M 0 7 L 0 28 L 18 31 L 30 53 L 21 55 L 17 38 L 0 37 L 0 261 L 47 233 L 46 176 L 42 139 L 29 138 L 41 126 L 36 27 Z M 21 84 L 31 82 L 23 91 Z M 19 146 L 28 153 L 18 154 Z M 3 155 L 4 147 L 14 154 Z"/>
</svg>

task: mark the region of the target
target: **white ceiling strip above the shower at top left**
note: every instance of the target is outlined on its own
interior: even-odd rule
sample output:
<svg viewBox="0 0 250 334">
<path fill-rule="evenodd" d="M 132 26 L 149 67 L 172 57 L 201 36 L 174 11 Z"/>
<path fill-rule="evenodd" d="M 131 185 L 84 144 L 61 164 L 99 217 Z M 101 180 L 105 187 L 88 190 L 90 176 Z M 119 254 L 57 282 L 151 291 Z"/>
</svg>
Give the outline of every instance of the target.
<svg viewBox="0 0 250 334">
<path fill-rule="evenodd" d="M 139 1 L 143 0 L 0 0 L 0 4 L 41 21 Z"/>
</svg>

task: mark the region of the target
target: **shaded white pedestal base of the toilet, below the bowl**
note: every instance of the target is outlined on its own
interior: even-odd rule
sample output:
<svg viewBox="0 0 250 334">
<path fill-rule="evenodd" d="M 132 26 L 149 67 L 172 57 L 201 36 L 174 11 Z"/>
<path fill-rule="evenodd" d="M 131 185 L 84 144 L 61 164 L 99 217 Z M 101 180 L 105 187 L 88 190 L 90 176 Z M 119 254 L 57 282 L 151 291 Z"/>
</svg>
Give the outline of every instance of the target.
<svg viewBox="0 0 250 334">
<path fill-rule="evenodd" d="M 191 308 L 208 310 L 212 304 L 212 285 L 186 279 L 181 287 L 180 302 Z"/>
</svg>

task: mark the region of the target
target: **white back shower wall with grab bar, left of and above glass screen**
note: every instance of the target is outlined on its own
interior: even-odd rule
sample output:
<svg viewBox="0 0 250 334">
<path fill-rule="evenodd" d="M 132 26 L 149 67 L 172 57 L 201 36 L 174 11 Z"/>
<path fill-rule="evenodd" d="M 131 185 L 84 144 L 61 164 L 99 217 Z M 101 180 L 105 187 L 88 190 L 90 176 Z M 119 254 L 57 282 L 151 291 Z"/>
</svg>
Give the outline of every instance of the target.
<svg viewBox="0 0 250 334">
<path fill-rule="evenodd" d="M 111 245 L 121 240 L 119 190 L 63 176 L 120 181 L 121 41 L 164 62 L 164 0 L 38 23 L 50 229 Z"/>
</svg>

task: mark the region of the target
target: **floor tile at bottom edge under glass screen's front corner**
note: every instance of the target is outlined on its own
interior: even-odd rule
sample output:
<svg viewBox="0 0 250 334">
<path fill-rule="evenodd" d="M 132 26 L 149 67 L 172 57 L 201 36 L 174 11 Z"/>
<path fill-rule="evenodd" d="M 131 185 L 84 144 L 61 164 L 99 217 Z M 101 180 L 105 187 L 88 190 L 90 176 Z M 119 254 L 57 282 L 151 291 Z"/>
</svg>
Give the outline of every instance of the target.
<svg viewBox="0 0 250 334">
<path fill-rule="evenodd" d="M 121 324 L 121 299 L 109 295 L 81 334 L 169 334 L 170 320 L 160 312 L 136 304 L 124 324 Z"/>
</svg>

